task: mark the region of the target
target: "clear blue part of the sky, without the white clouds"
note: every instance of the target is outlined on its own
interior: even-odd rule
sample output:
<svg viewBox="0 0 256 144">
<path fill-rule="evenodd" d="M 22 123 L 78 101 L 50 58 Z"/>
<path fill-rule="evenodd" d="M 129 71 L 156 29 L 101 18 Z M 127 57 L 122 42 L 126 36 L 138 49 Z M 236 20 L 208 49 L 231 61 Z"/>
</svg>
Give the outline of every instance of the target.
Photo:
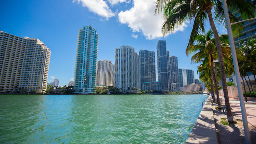
<svg viewBox="0 0 256 144">
<path fill-rule="evenodd" d="M 126 10 L 132 11 L 131 8 L 138 5 L 137 1 L 134 4 L 131 1 L 130 3 L 115 3 L 113 5 L 109 4 L 108 1 L 106 2 L 112 12 L 118 9 L 120 14 L 124 14 L 120 12 L 121 10 L 123 12 Z M 52 1 L 51 3 L 44 1 L 1 1 L 0 3 L 2 5 L 0 16 L 2 21 L 5 21 L 5 23 L 0 23 L 1 31 L 23 38 L 39 38 L 51 48 L 48 82 L 54 81 L 54 78 L 51 77 L 57 77 L 59 85 L 67 85 L 73 78 L 77 29 L 88 25 L 92 25 L 100 34 L 97 61 L 111 60 L 114 62 L 115 48 L 120 45 L 130 45 L 136 52 L 139 52 L 140 49 L 156 51 L 155 45 L 157 41 L 166 40 L 167 50 L 170 51 L 170 55 L 175 55 L 179 58 L 179 66 L 197 71 L 197 64 L 190 64 L 191 56 L 186 56 L 185 54 L 192 28 L 191 24 L 186 24 L 187 27 L 163 38 L 162 35 L 159 36 L 159 33 L 161 34 L 160 29 L 158 29 L 158 37 L 155 37 L 156 34 L 151 29 L 144 29 L 145 25 L 140 27 L 139 31 L 133 32 L 133 29 L 125 21 L 123 23 L 120 22 L 118 13 L 107 20 L 105 17 L 91 12 L 82 3 L 77 4 L 77 1 L 63 0 L 61 5 L 58 1 Z M 152 5 L 152 3 L 149 4 Z M 19 15 L 8 13 L 11 9 L 18 12 Z M 147 9 L 147 11 L 151 10 Z M 153 12 L 152 16 L 154 16 Z M 144 18 L 148 17 L 150 16 Z M 134 19 L 137 20 L 134 21 L 134 24 L 139 25 L 139 19 L 136 17 Z M 73 23 L 73 21 L 76 21 L 76 23 Z M 158 25 L 161 27 L 161 21 Z M 207 29 L 209 28 L 208 26 Z M 217 26 L 217 28 L 220 33 L 226 33 L 222 26 Z M 154 38 L 152 36 L 152 39 L 147 39 L 147 35 L 150 37 L 150 34 L 154 35 Z M 65 67 L 60 62 L 64 62 Z M 195 78 L 198 78 L 196 73 Z M 157 80 L 158 78 L 156 77 Z"/>
</svg>

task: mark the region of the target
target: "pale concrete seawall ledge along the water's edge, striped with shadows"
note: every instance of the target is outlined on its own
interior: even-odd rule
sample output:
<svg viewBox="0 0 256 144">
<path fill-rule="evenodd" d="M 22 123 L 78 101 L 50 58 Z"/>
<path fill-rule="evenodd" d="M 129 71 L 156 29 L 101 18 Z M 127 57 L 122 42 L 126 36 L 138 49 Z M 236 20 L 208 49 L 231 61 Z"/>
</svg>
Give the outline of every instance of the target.
<svg viewBox="0 0 256 144">
<path fill-rule="evenodd" d="M 210 97 L 205 102 L 202 111 L 194 125 L 186 144 L 217 144 L 217 135 Z"/>
</svg>

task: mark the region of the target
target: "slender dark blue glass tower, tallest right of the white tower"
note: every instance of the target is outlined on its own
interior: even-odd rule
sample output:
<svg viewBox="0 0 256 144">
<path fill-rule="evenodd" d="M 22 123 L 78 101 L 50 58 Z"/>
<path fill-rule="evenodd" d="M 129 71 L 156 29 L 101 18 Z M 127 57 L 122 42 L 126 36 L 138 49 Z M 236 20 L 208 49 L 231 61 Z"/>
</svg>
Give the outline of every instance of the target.
<svg viewBox="0 0 256 144">
<path fill-rule="evenodd" d="M 160 90 L 171 90 L 169 51 L 166 51 L 166 41 L 159 40 L 157 43 L 157 73 Z M 168 66 L 169 65 L 169 66 Z"/>
</svg>

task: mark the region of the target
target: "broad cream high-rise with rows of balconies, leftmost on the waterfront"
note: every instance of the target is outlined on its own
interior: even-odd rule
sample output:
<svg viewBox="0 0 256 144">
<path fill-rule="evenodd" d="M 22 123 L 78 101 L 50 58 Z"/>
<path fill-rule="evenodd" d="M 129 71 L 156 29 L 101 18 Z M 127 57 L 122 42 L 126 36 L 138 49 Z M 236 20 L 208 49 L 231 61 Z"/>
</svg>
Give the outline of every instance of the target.
<svg viewBox="0 0 256 144">
<path fill-rule="evenodd" d="M 0 91 L 44 92 L 50 56 L 51 50 L 39 39 L 0 31 Z"/>
</svg>

